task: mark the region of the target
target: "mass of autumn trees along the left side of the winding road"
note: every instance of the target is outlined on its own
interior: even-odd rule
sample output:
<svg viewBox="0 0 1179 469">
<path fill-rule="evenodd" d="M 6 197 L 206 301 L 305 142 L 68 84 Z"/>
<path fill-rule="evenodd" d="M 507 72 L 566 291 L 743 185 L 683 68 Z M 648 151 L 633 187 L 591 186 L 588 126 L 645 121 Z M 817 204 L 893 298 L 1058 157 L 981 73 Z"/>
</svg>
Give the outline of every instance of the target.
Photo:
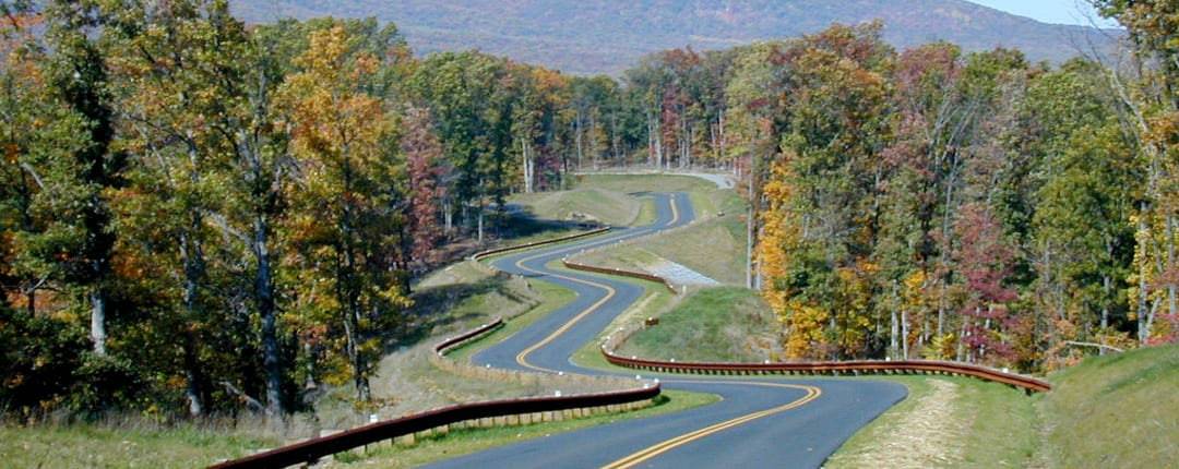
<svg viewBox="0 0 1179 469">
<path fill-rule="evenodd" d="M 0 20 L 7 415 L 371 402 L 415 275 L 485 242 L 508 194 L 641 139 L 612 79 L 415 58 L 373 19 L 55 0 Z"/>
</svg>

